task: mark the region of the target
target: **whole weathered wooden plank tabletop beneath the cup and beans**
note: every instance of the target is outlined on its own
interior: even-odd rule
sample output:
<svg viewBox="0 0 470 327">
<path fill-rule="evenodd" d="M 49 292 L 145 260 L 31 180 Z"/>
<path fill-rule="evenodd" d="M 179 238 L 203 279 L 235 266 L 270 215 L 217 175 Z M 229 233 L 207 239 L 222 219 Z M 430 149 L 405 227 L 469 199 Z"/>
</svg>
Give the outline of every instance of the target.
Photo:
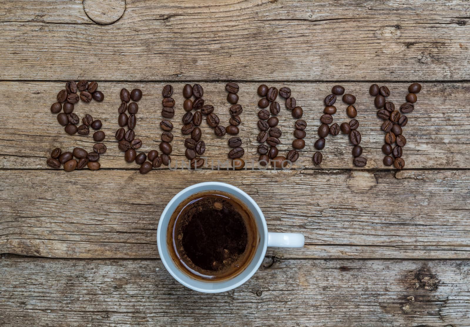
<svg viewBox="0 0 470 327">
<path fill-rule="evenodd" d="M 0 8 L 0 326 L 469 326 L 470 7 L 467 1 L 6 0 Z M 49 107 L 67 80 L 95 80 L 101 103 L 80 117 L 103 122 L 99 171 L 52 170 L 51 149 L 91 149 Z M 161 90 L 198 82 L 223 125 L 227 81 L 240 86 L 240 137 L 257 159 L 256 88 L 288 86 L 304 109 L 298 169 L 170 170 L 141 175 L 114 132 L 122 87 L 139 87 L 136 134 L 158 148 Z M 406 167 L 382 163 L 384 133 L 368 87 L 404 102 Z M 345 135 L 313 143 L 333 85 L 357 96 L 361 146 Z M 341 101 L 339 101 L 341 102 Z M 336 122 L 345 121 L 338 103 Z M 282 103 L 280 152 L 294 139 Z M 180 124 L 176 124 L 177 129 Z M 208 162 L 227 159 L 202 125 Z M 184 158 L 175 132 L 173 160 Z M 250 194 L 270 231 L 300 232 L 304 249 L 268 249 L 243 286 L 199 294 L 173 280 L 156 229 L 180 189 L 224 181 Z"/>
</svg>

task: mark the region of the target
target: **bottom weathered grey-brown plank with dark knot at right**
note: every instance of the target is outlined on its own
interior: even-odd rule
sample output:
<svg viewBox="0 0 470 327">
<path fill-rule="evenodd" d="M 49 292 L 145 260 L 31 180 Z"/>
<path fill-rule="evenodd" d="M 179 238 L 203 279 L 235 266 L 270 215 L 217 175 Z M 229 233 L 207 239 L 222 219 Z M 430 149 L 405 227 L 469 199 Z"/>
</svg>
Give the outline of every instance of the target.
<svg viewBox="0 0 470 327">
<path fill-rule="evenodd" d="M 266 260 L 197 293 L 160 260 L 0 259 L 2 326 L 470 325 L 470 261 Z"/>
</svg>

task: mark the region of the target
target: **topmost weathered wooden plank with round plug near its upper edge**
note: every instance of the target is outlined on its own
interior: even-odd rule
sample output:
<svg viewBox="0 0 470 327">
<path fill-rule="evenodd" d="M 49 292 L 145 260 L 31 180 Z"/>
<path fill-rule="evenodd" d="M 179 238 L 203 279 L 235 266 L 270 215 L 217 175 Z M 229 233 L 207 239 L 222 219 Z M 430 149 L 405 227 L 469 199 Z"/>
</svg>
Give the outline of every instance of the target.
<svg viewBox="0 0 470 327">
<path fill-rule="evenodd" d="M 3 1 L 0 79 L 470 78 L 465 1 L 125 2 Z"/>
</svg>

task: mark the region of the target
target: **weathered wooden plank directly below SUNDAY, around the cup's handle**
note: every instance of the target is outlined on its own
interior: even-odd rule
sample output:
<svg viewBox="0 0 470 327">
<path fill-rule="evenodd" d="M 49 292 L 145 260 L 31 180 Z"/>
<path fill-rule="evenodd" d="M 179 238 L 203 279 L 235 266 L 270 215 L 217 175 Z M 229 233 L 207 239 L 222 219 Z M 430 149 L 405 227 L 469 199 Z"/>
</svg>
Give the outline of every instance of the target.
<svg viewBox="0 0 470 327">
<path fill-rule="evenodd" d="M 208 180 L 241 187 L 270 231 L 305 234 L 279 257 L 470 256 L 470 171 L 0 171 L 0 253 L 153 258 L 166 203 Z M 338 246 L 336 248 L 336 246 Z M 415 251 L 415 253 L 412 253 Z"/>
</svg>

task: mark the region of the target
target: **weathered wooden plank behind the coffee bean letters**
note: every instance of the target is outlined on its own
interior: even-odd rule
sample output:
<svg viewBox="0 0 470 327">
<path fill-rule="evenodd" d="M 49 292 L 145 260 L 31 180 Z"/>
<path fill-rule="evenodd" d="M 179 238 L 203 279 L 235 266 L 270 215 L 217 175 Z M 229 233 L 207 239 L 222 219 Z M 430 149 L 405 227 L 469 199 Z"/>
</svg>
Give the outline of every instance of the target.
<svg viewBox="0 0 470 327">
<path fill-rule="evenodd" d="M 175 128 L 172 141 L 173 160 L 183 160 L 184 139 L 180 128 L 181 117 L 185 113 L 182 108 L 183 97 L 181 90 L 183 83 L 173 83 L 174 98 L 176 101 L 176 114 L 172 118 Z M 226 101 L 227 92 L 224 83 L 202 83 L 204 86 L 204 98 L 207 103 L 215 106 L 215 112 L 220 117 L 222 125 L 228 125 L 228 108 Z M 243 106 L 241 115 L 243 123 L 240 125 L 239 136 L 243 139 L 245 161 L 251 162 L 258 159 L 256 152 L 258 142 L 257 113 L 259 97 L 256 89 L 259 83 L 240 83 L 240 101 Z M 306 146 L 300 151 L 300 159 L 297 166 L 319 169 L 354 168 L 352 164 L 352 144 L 346 135 L 339 134 L 336 137 L 329 135 L 326 146 L 322 150 L 323 162 L 320 166 L 314 166 L 312 156 L 317 151 L 313 144 L 317 140 L 317 129 L 320 116 L 324 108 L 323 99 L 329 94 L 334 83 L 271 83 L 278 87 L 289 86 L 297 103 L 304 109 L 304 117 L 308 126 L 305 138 Z M 396 106 L 404 102 L 407 93 L 405 83 L 387 83 L 392 95 L 389 97 Z M 114 134 L 118 129 L 118 107 L 120 104 L 119 91 L 122 87 L 132 89 L 140 87 L 144 93 L 139 102 L 137 113 L 137 137 L 141 138 L 144 145 L 142 151 L 152 148 L 158 149 L 162 130 L 159 127 L 161 121 L 161 90 L 164 83 L 110 83 L 100 82 L 99 89 L 105 95 L 101 103 L 92 101 L 89 104 L 79 102 L 75 113 L 81 118 L 86 113 L 99 118 L 103 122 L 103 130 L 106 132 L 105 144 L 108 152 L 102 156 L 100 163 L 103 168 L 136 169 L 135 163 L 126 163 L 123 153 L 118 149 Z M 368 159 L 365 169 L 394 169 L 386 167 L 382 163 L 384 154 L 381 147 L 384 144 L 384 132 L 380 130 L 382 120 L 376 116 L 376 108 L 373 97 L 368 94 L 369 83 L 345 83 L 348 92 L 356 94 L 359 130 L 362 134 L 361 146 L 364 148 L 363 156 Z M 0 168 L 46 168 L 47 157 L 55 147 L 71 150 L 73 147 L 82 147 L 91 150 L 93 147 L 92 133 L 88 136 L 78 134 L 70 136 L 63 127 L 57 123 L 55 114 L 51 114 L 49 108 L 55 101 L 56 94 L 64 87 L 62 82 L 0 82 L 0 94 L 3 101 L 0 102 Z M 405 168 L 470 168 L 470 110 L 468 107 L 468 83 L 424 83 L 423 90 L 418 94 L 418 102 L 415 110 L 408 114 L 409 123 L 403 128 L 403 134 L 407 138 L 407 145 L 403 148 L 403 158 L 406 161 Z M 295 119 L 290 111 L 285 108 L 284 101 L 279 97 L 281 113 L 279 126 L 283 132 L 282 144 L 278 147 L 282 155 L 286 155 L 291 149 L 294 140 L 293 131 Z M 337 101 L 338 111 L 334 115 L 334 122 L 348 121 L 345 113 L 346 105 Z M 201 125 L 203 139 L 206 143 L 204 156 L 224 163 L 230 148 L 227 146 L 229 135 L 218 138 L 213 129 L 205 120 Z M 173 165 L 174 166 L 174 165 Z M 247 165 L 248 166 L 248 165 Z M 164 169 L 164 168 L 162 168 Z"/>
</svg>

